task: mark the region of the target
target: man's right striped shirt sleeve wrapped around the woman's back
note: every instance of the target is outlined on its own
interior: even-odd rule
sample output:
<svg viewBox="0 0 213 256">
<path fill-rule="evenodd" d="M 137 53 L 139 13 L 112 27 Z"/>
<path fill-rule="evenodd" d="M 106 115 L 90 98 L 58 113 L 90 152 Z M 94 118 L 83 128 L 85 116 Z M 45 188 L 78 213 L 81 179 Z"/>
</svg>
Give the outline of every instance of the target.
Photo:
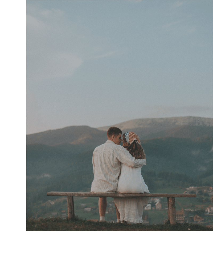
<svg viewBox="0 0 213 256">
<path fill-rule="evenodd" d="M 121 163 L 133 168 L 146 165 L 146 159 L 135 159 L 124 147 L 121 147 L 120 150 L 118 150 L 117 158 Z"/>
</svg>

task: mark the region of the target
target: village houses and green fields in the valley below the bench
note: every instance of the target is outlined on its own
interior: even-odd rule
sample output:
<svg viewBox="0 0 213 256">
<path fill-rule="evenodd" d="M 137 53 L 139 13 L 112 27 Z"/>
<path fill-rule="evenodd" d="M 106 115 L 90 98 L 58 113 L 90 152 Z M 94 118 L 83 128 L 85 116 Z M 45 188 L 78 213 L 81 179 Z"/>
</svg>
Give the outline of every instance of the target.
<svg viewBox="0 0 213 256">
<path fill-rule="evenodd" d="M 196 198 L 193 198 L 194 202 L 192 202 L 192 198 L 175 198 L 177 222 L 199 224 L 213 228 L 213 188 L 211 186 L 188 187 L 183 193 L 196 194 Z M 117 222 L 114 200 L 111 199 L 107 198 L 109 201 L 107 201 L 105 219 L 110 222 Z M 99 219 L 97 200 L 98 198 L 74 197 L 75 214 L 83 219 Z M 54 209 L 54 205 L 55 209 L 58 208 L 58 204 L 61 206 L 57 211 L 51 212 L 49 216 L 43 217 L 59 216 L 61 218 L 67 218 L 66 201 L 66 198 L 62 197 L 43 203 L 42 205 L 46 205 L 46 207 L 48 205 L 51 206 L 51 209 Z M 165 223 L 167 221 L 167 209 L 167 198 L 149 198 L 148 205 L 144 208 L 143 223 L 145 225 Z"/>
</svg>

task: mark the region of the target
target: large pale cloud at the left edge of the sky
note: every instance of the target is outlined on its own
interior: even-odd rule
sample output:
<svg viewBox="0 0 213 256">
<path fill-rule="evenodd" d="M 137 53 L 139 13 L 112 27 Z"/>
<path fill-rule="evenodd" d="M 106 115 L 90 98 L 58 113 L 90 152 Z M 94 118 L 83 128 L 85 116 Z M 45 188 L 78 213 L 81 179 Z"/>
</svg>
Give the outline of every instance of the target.
<svg viewBox="0 0 213 256">
<path fill-rule="evenodd" d="M 63 27 L 56 27 L 54 23 L 40 19 L 40 15 L 52 18 L 63 12 L 59 9 L 31 9 L 34 15 L 27 14 L 26 17 L 27 83 L 71 76 L 81 66 L 83 59 L 78 56 L 74 47 L 64 47 L 61 38 L 66 38 L 66 33 L 61 32 Z M 59 41 L 62 43 L 56 47 Z"/>
</svg>

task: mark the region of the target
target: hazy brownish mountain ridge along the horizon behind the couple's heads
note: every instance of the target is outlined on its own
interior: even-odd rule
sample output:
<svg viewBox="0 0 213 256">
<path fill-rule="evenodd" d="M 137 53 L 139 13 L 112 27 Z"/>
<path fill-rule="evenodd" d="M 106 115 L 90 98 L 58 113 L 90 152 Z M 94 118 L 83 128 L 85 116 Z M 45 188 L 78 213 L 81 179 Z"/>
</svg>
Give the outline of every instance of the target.
<svg viewBox="0 0 213 256">
<path fill-rule="evenodd" d="M 120 128 L 123 133 L 131 130 L 137 133 L 140 139 L 159 137 L 195 139 L 199 137 L 212 137 L 213 118 L 141 118 L 111 126 Z M 40 143 L 48 146 L 55 146 L 68 143 L 85 147 L 86 150 L 90 150 L 106 142 L 106 131 L 111 126 L 99 128 L 92 128 L 89 126 L 68 126 L 61 129 L 29 134 L 27 135 L 27 145 Z"/>
</svg>

